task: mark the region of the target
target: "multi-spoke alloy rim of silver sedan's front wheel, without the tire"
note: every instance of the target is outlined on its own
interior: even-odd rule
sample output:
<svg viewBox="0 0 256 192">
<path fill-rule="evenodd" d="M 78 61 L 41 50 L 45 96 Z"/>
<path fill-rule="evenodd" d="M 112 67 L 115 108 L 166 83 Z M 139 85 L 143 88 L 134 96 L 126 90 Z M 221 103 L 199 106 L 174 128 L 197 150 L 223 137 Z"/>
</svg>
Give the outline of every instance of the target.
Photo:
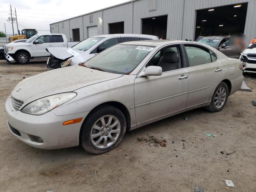
<svg viewBox="0 0 256 192">
<path fill-rule="evenodd" d="M 97 148 L 106 148 L 114 144 L 121 131 L 118 118 L 106 115 L 99 118 L 92 126 L 90 138 L 92 144 Z"/>
</svg>

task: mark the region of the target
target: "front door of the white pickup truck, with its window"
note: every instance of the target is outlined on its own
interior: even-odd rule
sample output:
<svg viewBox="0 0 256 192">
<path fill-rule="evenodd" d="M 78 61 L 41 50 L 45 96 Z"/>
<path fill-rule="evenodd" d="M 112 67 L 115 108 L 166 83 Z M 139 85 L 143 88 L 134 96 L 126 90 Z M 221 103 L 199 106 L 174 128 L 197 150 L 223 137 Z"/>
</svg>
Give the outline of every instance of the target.
<svg viewBox="0 0 256 192">
<path fill-rule="evenodd" d="M 52 42 L 50 40 L 49 35 L 39 36 L 36 38 L 39 44 L 32 44 L 32 50 L 34 53 L 34 57 L 47 57 L 50 56 L 50 53 L 47 52 L 45 49 L 48 47 L 52 47 Z"/>
</svg>

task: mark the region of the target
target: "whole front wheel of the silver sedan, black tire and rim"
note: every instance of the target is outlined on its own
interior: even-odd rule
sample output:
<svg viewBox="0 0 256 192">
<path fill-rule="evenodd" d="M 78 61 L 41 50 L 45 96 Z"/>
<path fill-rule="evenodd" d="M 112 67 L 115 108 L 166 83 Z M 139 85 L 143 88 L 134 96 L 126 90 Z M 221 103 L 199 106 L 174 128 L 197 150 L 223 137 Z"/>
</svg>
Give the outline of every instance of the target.
<svg viewBox="0 0 256 192">
<path fill-rule="evenodd" d="M 89 153 L 102 154 L 115 148 L 125 131 L 124 114 L 114 106 L 100 106 L 82 124 L 80 145 Z"/>
</svg>

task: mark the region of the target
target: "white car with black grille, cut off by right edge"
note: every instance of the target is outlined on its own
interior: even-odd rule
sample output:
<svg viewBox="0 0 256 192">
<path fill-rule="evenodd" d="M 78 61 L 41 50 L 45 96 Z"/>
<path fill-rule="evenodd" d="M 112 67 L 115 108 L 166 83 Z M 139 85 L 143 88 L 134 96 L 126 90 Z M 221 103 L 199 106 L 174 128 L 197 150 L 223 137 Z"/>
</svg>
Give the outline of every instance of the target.
<svg viewBox="0 0 256 192">
<path fill-rule="evenodd" d="M 241 53 L 240 60 L 244 73 L 256 73 L 256 42 Z"/>
</svg>

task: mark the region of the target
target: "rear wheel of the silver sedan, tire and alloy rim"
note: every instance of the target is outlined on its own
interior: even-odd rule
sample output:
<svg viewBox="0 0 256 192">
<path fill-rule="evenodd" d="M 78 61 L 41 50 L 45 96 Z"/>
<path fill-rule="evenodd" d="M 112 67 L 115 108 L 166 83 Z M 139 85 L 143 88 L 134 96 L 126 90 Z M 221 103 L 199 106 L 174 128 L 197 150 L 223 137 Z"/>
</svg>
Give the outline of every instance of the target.
<svg viewBox="0 0 256 192">
<path fill-rule="evenodd" d="M 220 82 L 216 87 L 212 96 L 211 104 L 206 106 L 206 110 L 211 112 L 218 112 L 224 108 L 228 100 L 228 86 L 224 82 Z"/>
</svg>

